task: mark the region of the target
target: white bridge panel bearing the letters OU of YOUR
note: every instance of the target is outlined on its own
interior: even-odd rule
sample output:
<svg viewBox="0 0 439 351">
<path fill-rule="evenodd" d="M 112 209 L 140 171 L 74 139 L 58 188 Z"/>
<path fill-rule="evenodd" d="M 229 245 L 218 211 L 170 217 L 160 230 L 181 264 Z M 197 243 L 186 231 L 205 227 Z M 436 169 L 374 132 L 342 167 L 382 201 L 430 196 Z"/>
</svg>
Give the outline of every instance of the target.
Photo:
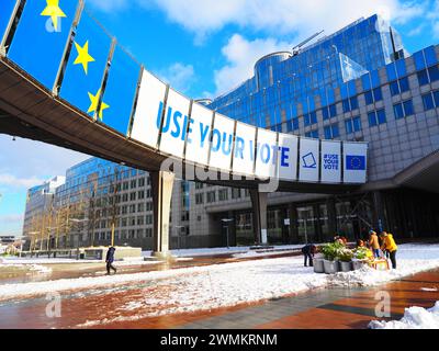
<svg viewBox="0 0 439 351">
<path fill-rule="evenodd" d="M 227 118 L 219 113 L 215 114 L 210 167 L 230 170 L 235 123 L 235 120 Z"/>
</svg>

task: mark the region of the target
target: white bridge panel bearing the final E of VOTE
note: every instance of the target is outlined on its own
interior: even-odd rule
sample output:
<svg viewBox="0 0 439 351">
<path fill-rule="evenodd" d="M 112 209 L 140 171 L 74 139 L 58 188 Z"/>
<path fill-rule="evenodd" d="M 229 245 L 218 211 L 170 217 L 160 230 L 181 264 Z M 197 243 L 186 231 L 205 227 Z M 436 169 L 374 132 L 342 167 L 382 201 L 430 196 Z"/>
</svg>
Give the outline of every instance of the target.
<svg viewBox="0 0 439 351">
<path fill-rule="evenodd" d="M 279 179 L 297 180 L 297 147 L 299 138 L 295 135 L 279 134 Z"/>
</svg>

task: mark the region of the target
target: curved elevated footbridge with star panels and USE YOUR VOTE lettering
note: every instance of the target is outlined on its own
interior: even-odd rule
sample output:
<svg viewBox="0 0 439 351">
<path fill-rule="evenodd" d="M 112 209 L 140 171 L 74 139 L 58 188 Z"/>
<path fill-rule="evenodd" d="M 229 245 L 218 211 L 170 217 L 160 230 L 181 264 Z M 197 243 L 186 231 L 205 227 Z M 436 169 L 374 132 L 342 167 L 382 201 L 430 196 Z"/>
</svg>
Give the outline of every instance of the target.
<svg viewBox="0 0 439 351">
<path fill-rule="evenodd" d="M 2 0 L 0 41 L 0 133 L 150 172 L 156 251 L 167 251 L 176 173 L 250 189 L 258 231 L 269 191 L 340 193 L 367 181 L 367 144 L 275 133 L 209 110 L 137 63 L 82 0 Z"/>
</svg>

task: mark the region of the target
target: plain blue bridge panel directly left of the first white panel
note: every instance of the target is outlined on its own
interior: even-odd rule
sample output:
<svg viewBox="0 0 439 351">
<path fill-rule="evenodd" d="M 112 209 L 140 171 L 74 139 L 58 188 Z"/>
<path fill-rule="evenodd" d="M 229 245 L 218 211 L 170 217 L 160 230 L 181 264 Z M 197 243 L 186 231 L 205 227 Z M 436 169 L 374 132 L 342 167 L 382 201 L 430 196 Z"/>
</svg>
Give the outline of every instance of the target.
<svg viewBox="0 0 439 351">
<path fill-rule="evenodd" d="M 140 65 L 122 47 L 116 46 L 103 95 L 103 101 L 110 109 L 105 110 L 99 121 L 123 135 L 128 132 L 139 75 Z"/>
</svg>

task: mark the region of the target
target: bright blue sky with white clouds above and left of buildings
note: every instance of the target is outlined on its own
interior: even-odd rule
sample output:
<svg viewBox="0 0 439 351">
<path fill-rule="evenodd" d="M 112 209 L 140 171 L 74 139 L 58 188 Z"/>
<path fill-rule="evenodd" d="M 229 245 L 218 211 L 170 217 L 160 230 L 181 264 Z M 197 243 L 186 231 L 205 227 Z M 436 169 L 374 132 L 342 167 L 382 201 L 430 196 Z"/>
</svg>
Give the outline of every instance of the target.
<svg viewBox="0 0 439 351">
<path fill-rule="evenodd" d="M 255 61 L 380 13 L 414 53 L 439 43 L 439 0 L 87 0 L 92 14 L 146 68 L 191 98 L 249 78 Z M 337 15 L 331 15 L 337 14 Z M 21 234 L 26 189 L 87 158 L 0 135 L 0 235 Z M 3 152 L 8 150 L 8 152 Z"/>
</svg>

